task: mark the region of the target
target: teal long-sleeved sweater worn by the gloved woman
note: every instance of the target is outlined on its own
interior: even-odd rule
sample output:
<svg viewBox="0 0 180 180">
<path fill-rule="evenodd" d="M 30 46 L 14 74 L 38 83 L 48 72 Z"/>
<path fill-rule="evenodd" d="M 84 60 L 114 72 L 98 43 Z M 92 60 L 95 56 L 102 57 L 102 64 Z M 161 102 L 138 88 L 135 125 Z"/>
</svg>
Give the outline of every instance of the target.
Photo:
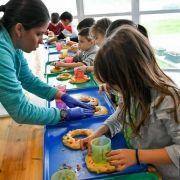
<svg viewBox="0 0 180 180">
<path fill-rule="evenodd" d="M 0 102 L 18 123 L 45 125 L 59 122 L 59 109 L 32 104 L 23 89 L 48 101 L 57 93 L 57 89 L 32 74 L 23 52 L 14 48 L 9 33 L 0 26 Z"/>
</svg>

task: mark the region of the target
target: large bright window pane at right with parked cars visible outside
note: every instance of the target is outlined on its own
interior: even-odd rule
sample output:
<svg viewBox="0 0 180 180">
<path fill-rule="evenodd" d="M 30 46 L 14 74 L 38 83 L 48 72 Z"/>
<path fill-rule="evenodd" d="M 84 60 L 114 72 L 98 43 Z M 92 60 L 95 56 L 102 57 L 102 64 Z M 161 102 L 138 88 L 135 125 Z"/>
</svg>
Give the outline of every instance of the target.
<svg viewBox="0 0 180 180">
<path fill-rule="evenodd" d="M 180 69 L 180 14 L 141 15 L 140 23 L 148 30 L 161 68 Z"/>
</svg>

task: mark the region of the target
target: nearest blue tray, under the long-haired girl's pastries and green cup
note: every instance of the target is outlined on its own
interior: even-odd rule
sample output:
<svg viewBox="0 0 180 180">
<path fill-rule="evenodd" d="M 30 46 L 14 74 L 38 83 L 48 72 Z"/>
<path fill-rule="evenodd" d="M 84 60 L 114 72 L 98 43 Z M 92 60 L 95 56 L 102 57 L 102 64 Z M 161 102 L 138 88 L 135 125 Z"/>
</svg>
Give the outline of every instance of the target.
<svg viewBox="0 0 180 180">
<path fill-rule="evenodd" d="M 93 117 L 86 120 L 62 122 L 58 126 L 46 127 L 44 134 L 44 180 L 50 180 L 53 173 L 62 168 L 64 164 L 71 166 L 77 172 L 78 179 L 99 179 L 117 174 L 129 174 L 146 171 L 146 165 L 134 165 L 124 171 L 112 174 L 96 174 L 87 170 L 85 165 L 86 151 L 71 150 L 62 144 L 62 137 L 70 130 L 90 128 L 97 130 L 107 117 Z M 112 149 L 127 148 L 122 134 L 117 134 L 112 139 Z M 77 171 L 80 165 L 80 171 Z"/>
</svg>

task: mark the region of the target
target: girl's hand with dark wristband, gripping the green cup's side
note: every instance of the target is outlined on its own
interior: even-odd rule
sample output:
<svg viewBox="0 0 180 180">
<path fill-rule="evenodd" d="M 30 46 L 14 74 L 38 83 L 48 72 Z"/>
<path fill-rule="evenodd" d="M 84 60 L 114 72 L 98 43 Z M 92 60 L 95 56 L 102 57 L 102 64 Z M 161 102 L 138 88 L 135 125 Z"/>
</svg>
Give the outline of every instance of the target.
<svg viewBox="0 0 180 180">
<path fill-rule="evenodd" d="M 136 153 L 133 149 L 113 150 L 107 154 L 107 160 L 117 171 L 122 171 L 136 164 Z"/>
</svg>

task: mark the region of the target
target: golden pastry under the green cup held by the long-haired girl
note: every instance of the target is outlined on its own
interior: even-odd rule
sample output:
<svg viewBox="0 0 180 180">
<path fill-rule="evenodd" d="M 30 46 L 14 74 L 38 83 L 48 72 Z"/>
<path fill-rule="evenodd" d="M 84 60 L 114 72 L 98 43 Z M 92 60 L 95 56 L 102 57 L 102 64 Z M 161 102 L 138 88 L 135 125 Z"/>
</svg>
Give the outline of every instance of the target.
<svg viewBox="0 0 180 180">
<path fill-rule="evenodd" d="M 115 166 L 110 165 L 109 162 L 95 163 L 91 155 L 86 155 L 85 162 L 88 170 L 91 172 L 100 174 L 100 173 L 112 173 L 116 171 Z"/>
</svg>

